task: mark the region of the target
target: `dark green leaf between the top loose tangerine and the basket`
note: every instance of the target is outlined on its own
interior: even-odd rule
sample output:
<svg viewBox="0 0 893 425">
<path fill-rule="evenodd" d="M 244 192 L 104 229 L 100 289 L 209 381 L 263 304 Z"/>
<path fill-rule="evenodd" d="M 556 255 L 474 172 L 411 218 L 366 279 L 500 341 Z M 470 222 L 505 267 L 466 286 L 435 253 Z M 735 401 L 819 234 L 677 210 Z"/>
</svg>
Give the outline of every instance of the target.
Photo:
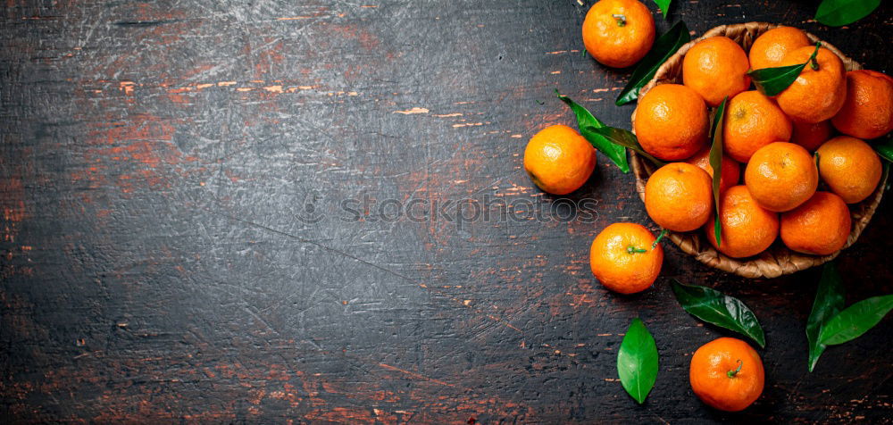
<svg viewBox="0 0 893 425">
<path fill-rule="evenodd" d="M 670 4 L 670 0 L 665 1 Z M 657 2 L 655 1 L 655 3 Z M 663 10 L 663 6 L 661 6 L 661 10 Z M 638 99 L 638 90 L 651 81 L 655 77 L 657 69 L 689 41 L 691 41 L 691 36 L 685 22 L 676 22 L 669 31 L 655 40 L 655 45 L 638 63 L 636 71 L 632 71 L 630 81 L 626 83 L 626 87 L 623 87 L 614 104 L 621 106 Z"/>
</svg>

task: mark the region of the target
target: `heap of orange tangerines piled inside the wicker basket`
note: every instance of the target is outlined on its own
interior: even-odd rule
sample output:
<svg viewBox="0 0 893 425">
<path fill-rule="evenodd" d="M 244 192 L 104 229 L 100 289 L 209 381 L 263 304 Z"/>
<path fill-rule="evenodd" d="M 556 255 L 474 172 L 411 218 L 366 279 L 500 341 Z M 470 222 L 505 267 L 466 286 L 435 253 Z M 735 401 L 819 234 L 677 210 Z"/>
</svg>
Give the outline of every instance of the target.
<svg viewBox="0 0 893 425">
<path fill-rule="evenodd" d="M 748 89 L 748 71 L 800 63 L 807 66 L 777 96 Z M 723 99 L 724 116 L 714 118 L 723 124 L 714 135 L 723 151 L 714 200 L 708 116 Z M 791 27 L 766 31 L 749 52 L 728 37 L 708 37 L 685 54 L 682 84 L 642 96 L 633 128 L 648 154 L 670 162 L 645 189 L 648 215 L 663 229 L 704 229 L 732 258 L 760 254 L 779 237 L 798 253 L 833 254 L 850 234 L 847 204 L 880 181 L 880 157 L 864 139 L 893 130 L 893 79 L 846 71 L 837 54 Z"/>
</svg>

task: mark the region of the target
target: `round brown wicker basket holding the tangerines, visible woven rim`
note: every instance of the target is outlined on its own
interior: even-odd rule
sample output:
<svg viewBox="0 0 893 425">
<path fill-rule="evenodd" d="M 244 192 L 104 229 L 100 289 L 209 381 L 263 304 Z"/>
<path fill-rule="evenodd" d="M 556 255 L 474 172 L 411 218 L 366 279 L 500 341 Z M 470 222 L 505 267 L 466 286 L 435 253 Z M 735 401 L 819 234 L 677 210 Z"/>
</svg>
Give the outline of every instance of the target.
<svg viewBox="0 0 893 425">
<path fill-rule="evenodd" d="M 644 96 L 651 87 L 655 87 L 655 85 L 658 84 L 681 84 L 682 58 L 685 56 L 686 52 L 689 51 L 689 48 L 694 46 L 698 41 L 706 37 L 726 36 L 730 37 L 747 51 L 750 46 L 754 44 L 756 37 L 759 37 L 765 31 L 778 26 L 779 25 L 766 22 L 748 22 L 734 25 L 722 25 L 710 29 L 705 32 L 702 37 L 692 40 L 685 46 L 681 46 L 676 54 L 673 54 L 666 63 L 663 63 L 657 70 L 655 78 L 651 79 L 645 87 L 642 87 L 640 96 Z M 806 33 L 806 36 L 813 42 L 821 41 L 818 37 L 815 37 L 812 34 Z M 845 54 L 842 54 L 837 47 L 831 46 L 824 41 L 822 41 L 822 46 L 828 48 L 835 54 L 838 54 L 843 61 L 844 66 L 846 66 L 847 71 L 862 69 L 862 66 L 859 63 L 856 63 Z M 632 121 L 636 121 L 636 112 L 632 113 Z M 644 201 L 645 184 L 648 176 L 655 171 L 655 166 L 640 155 L 635 153 L 630 154 L 632 171 L 636 176 L 636 190 L 638 191 L 638 196 Z M 855 240 L 862 233 L 862 230 L 868 225 L 868 221 L 872 219 L 874 210 L 876 210 L 878 204 L 880 204 L 880 196 L 883 194 L 885 183 L 886 177 L 880 181 L 878 187 L 875 188 L 874 193 L 871 196 L 861 203 L 849 205 L 853 217 L 853 229 L 847 238 L 847 244 L 844 245 L 844 248 L 853 245 Z M 751 279 L 775 278 L 783 274 L 805 270 L 822 264 L 823 262 L 828 262 L 840 254 L 839 251 L 834 254 L 823 256 L 799 254 L 789 250 L 786 246 L 781 244 L 780 241 L 776 240 L 769 249 L 761 254 L 749 258 L 735 259 L 716 251 L 714 247 L 707 242 L 702 231 L 686 233 L 670 232 L 667 236 L 674 244 L 679 246 L 683 252 L 694 255 L 697 261 L 703 262 L 716 269 L 728 271 Z"/>
</svg>

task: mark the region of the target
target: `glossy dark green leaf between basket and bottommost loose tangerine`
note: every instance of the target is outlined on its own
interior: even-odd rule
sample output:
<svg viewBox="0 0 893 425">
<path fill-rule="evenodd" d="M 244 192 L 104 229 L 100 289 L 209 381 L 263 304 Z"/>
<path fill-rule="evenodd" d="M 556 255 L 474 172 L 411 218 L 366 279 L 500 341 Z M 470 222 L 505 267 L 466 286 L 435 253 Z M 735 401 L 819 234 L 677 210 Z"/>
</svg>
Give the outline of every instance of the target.
<svg viewBox="0 0 893 425">
<path fill-rule="evenodd" d="M 763 327 L 754 312 L 734 296 L 727 296 L 709 287 L 683 285 L 672 280 L 672 292 L 686 312 L 720 328 L 738 332 L 753 339 L 760 347 L 766 346 Z"/>
</svg>

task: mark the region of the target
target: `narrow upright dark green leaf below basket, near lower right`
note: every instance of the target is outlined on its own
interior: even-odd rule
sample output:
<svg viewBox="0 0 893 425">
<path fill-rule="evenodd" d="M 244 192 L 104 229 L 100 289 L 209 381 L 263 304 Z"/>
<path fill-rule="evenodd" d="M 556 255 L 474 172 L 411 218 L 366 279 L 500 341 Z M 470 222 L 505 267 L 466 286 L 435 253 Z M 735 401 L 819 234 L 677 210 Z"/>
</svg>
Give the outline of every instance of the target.
<svg viewBox="0 0 893 425">
<path fill-rule="evenodd" d="M 813 371 L 825 345 L 819 344 L 819 333 L 830 318 L 837 315 L 844 306 L 844 288 L 835 262 L 826 262 L 822 268 L 822 279 L 815 291 L 813 311 L 806 321 L 806 339 L 809 340 L 809 371 Z"/>
</svg>

